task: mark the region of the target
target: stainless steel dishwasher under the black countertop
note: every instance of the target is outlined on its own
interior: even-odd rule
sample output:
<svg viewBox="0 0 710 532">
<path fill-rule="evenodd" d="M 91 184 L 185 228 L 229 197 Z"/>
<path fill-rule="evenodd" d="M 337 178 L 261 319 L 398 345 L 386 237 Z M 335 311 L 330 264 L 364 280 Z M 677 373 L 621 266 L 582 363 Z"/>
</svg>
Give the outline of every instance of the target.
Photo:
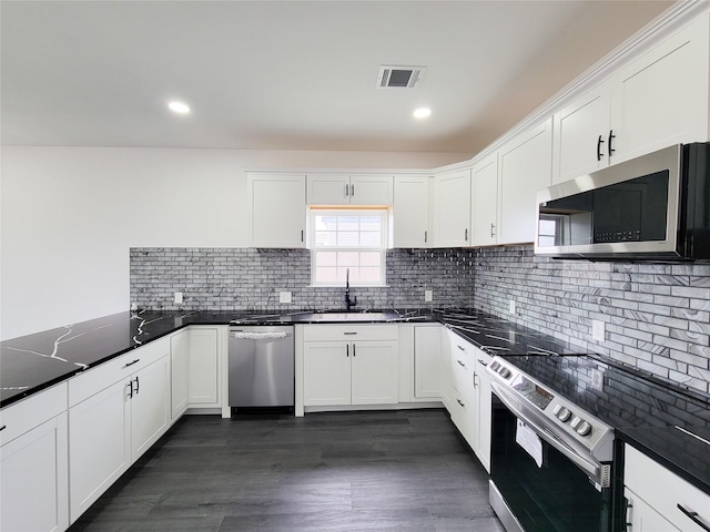
<svg viewBox="0 0 710 532">
<path fill-rule="evenodd" d="M 293 326 L 230 327 L 230 407 L 293 407 Z"/>
</svg>

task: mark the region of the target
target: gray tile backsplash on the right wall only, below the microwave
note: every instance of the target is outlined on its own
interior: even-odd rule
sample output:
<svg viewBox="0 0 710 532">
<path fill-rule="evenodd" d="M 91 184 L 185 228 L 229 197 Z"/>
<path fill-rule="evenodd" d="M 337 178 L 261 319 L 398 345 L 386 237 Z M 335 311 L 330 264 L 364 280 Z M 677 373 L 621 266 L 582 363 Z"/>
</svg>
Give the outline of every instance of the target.
<svg viewBox="0 0 710 532">
<path fill-rule="evenodd" d="M 476 249 L 475 306 L 710 393 L 710 266 L 556 260 Z M 516 300 L 516 315 L 508 313 Z M 591 339 L 591 323 L 606 339 Z"/>
</svg>

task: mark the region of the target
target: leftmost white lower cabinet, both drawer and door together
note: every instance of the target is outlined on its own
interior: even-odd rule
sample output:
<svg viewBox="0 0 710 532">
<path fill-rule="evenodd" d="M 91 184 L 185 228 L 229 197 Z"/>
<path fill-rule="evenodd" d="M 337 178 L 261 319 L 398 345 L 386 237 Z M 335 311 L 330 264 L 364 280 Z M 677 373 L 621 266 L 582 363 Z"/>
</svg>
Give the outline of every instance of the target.
<svg viewBox="0 0 710 532">
<path fill-rule="evenodd" d="M 0 412 L 0 530 L 61 532 L 69 526 L 67 385 Z"/>
</svg>

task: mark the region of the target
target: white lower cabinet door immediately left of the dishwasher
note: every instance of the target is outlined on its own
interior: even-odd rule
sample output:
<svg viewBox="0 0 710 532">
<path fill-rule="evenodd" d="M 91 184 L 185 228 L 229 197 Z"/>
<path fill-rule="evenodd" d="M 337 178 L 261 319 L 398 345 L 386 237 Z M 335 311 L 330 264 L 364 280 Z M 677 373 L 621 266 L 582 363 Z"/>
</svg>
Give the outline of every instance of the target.
<svg viewBox="0 0 710 532">
<path fill-rule="evenodd" d="M 191 327 L 189 336 L 190 406 L 219 407 L 220 341 L 217 327 Z"/>
</svg>

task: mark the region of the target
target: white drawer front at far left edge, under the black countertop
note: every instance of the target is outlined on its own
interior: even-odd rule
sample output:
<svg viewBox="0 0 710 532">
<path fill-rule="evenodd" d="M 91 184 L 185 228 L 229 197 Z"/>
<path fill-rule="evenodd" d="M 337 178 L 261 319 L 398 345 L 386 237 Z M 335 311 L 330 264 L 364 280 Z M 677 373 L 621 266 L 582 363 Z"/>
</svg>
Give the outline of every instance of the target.
<svg viewBox="0 0 710 532">
<path fill-rule="evenodd" d="M 60 382 L 0 410 L 0 446 L 67 410 L 67 382 Z"/>
</svg>

